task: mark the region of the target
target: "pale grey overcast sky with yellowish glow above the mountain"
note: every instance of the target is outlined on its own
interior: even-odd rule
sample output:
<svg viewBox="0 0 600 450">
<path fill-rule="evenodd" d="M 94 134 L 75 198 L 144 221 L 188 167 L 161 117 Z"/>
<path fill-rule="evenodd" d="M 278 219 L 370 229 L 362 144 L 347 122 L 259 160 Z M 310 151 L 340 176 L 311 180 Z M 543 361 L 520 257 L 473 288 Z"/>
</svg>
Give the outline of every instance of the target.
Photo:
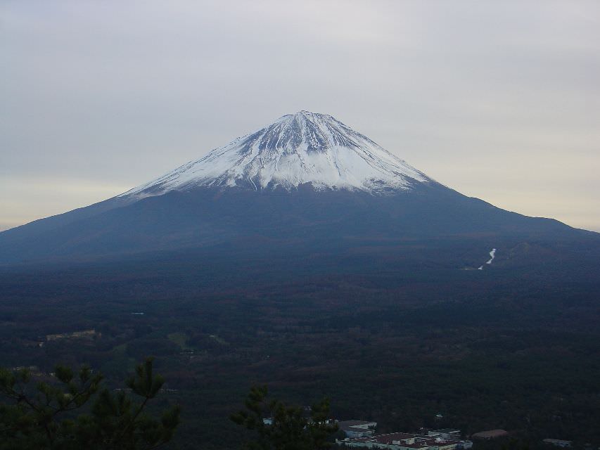
<svg viewBox="0 0 600 450">
<path fill-rule="evenodd" d="M 600 231 L 595 0 L 2 0 L 0 229 L 298 110 L 466 195 Z"/>
</svg>

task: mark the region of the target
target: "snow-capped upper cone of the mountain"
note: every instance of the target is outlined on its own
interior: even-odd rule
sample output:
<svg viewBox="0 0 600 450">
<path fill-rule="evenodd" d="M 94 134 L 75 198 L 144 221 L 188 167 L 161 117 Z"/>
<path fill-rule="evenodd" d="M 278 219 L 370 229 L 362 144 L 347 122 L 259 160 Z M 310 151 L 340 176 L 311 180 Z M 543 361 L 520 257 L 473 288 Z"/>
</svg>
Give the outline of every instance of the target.
<svg viewBox="0 0 600 450">
<path fill-rule="evenodd" d="M 290 191 L 302 184 L 317 190 L 386 193 L 429 181 L 335 117 L 300 111 L 121 196 L 139 198 L 200 186 Z"/>
</svg>

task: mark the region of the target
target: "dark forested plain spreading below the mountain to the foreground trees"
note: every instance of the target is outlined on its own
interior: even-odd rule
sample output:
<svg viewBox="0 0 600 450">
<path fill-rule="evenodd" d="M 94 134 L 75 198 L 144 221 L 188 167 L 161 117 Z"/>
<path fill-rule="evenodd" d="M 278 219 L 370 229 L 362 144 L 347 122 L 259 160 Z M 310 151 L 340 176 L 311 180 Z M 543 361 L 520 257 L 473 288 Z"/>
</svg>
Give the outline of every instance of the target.
<svg viewBox="0 0 600 450">
<path fill-rule="evenodd" d="M 483 271 L 471 269 L 489 248 L 459 240 L 341 259 L 326 245 L 241 246 L 4 267 L 0 366 L 46 376 L 85 363 L 117 388 L 153 355 L 167 380 L 154 407 L 181 405 L 172 449 L 239 448 L 229 416 L 255 384 L 299 405 L 328 397 L 334 418 L 381 432 L 503 428 L 531 448 L 600 445 L 598 263 L 494 244 Z"/>
</svg>

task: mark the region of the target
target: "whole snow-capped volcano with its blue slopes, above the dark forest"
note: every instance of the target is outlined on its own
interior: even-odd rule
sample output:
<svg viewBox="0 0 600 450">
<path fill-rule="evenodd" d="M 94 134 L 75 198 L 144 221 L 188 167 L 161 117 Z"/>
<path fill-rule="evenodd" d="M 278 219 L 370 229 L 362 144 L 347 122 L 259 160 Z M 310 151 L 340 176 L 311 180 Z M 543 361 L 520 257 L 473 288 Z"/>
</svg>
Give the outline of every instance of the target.
<svg viewBox="0 0 600 450">
<path fill-rule="evenodd" d="M 300 111 L 114 198 L 0 233 L 0 262 L 432 239 L 498 248 L 502 260 L 502 245 L 597 234 L 468 198 L 336 118 Z"/>
</svg>

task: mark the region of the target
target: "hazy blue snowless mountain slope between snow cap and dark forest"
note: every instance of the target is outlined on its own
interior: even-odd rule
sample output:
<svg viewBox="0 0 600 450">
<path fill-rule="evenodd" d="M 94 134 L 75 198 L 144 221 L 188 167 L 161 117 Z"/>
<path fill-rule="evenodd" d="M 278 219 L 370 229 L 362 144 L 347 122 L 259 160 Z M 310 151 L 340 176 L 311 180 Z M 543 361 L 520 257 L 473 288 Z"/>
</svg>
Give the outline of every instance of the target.
<svg viewBox="0 0 600 450">
<path fill-rule="evenodd" d="M 90 259 L 261 238 L 266 248 L 276 249 L 445 236 L 490 242 L 598 236 L 556 220 L 506 212 L 441 185 L 388 196 L 312 188 L 292 193 L 198 189 L 131 204 L 107 200 L 63 216 L 0 233 L 0 262 Z"/>
</svg>

